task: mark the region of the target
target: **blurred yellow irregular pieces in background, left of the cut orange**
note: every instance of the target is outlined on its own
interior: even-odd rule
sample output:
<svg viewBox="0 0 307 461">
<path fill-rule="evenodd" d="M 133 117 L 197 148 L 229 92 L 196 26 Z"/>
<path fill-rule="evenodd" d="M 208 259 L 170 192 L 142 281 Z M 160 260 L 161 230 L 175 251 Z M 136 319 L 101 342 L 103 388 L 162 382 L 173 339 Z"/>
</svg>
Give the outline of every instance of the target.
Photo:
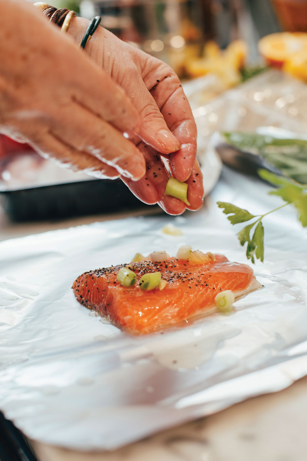
<svg viewBox="0 0 307 461">
<path fill-rule="evenodd" d="M 224 52 L 214 41 L 209 41 L 203 48 L 203 57 L 186 59 L 185 69 L 190 77 L 214 74 L 226 89 L 231 88 L 241 82 L 240 69 L 247 53 L 247 45 L 242 40 L 233 41 Z"/>
</svg>

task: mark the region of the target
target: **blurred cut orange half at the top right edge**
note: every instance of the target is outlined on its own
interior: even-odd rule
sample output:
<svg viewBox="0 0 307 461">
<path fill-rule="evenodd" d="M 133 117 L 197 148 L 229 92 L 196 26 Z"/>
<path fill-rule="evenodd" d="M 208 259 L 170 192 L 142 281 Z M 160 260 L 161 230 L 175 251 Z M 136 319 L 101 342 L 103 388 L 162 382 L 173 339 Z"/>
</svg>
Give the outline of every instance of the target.
<svg viewBox="0 0 307 461">
<path fill-rule="evenodd" d="M 258 49 L 269 65 L 282 68 L 296 53 L 307 53 L 307 33 L 280 32 L 266 35 L 259 41 Z"/>
</svg>

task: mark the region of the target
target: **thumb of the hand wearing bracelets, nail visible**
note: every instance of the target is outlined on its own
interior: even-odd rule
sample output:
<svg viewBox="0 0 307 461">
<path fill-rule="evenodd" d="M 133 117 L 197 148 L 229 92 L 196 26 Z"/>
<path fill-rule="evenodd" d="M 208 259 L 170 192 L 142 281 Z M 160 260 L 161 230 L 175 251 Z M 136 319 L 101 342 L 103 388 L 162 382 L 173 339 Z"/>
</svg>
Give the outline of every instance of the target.
<svg viewBox="0 0 307 461">
<path fill-rule="evenodd" d="M 139 138 L 162 154 L 177 151 L 180 148 L 180 142 L 168 129 L 162 113 L 145 87 L 139 73 L 133 77 L 129 92 L 138 95 L 133 102 L 141 120 L 138 131 Z"/>
</svg>

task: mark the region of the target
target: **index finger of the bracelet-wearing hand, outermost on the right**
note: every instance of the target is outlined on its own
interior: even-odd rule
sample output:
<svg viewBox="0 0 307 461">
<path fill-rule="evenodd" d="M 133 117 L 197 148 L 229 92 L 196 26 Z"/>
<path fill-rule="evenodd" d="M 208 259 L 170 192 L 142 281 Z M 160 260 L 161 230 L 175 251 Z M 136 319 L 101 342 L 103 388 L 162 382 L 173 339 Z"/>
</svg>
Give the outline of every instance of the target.
<svg viewBox="0 0 307 461">
<path fill-rule="evenodd" d="M 152 77 L 157 75 L 163 77 L 157 77 L 155 80 L 159 82 L 152 87 Z M 152 77 L 145 78 L 147 88 L 150 89 L 168 128 L 181 144 L 180 150 L 171 155 L 171 171 L 179 181 L 186 181 L 191 174 L 197 151 L 197 129 L 191 107 L 179 78 L 168 66 L 164 63 L 160 65 Z"/>
</svg>

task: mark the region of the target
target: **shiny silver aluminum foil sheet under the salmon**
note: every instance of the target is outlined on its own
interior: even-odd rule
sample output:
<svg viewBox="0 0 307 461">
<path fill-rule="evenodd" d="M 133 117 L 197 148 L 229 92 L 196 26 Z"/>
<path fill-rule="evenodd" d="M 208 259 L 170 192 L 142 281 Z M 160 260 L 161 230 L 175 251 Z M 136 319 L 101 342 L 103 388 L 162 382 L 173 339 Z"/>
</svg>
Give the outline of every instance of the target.
<svg viewBox="0 0 307 461">
<path fill-rule="evenodd" d="M 216 200 L 252 213 L 281 202 L 230 170 L 199 212 L 95 223 L 0 244 L 0 408 L 31 438 L 116 449 L 155 431 L 277 391 L 307 374 L 307 231 L 286 207 L 264 220 L 264 285 L 184 327 L 133 337 L 81 306 L 84 271 L 182 244 L 246 263 Z M 172 222 L 182 236 L 162 233 Z"/>
</svg>

